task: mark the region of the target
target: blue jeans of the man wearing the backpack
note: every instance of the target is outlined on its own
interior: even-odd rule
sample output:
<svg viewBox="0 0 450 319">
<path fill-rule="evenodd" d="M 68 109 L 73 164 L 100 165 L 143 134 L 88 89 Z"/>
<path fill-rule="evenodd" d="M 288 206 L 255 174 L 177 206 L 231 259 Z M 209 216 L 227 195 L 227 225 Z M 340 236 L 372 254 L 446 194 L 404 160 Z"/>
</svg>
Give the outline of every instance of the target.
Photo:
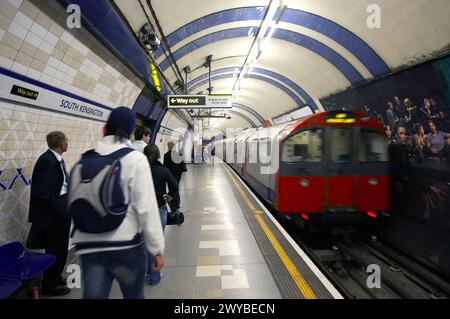
<svg viewBox="0 0 450 319">
<path fill-rule="evenodd" d="M 147 269 L 144 245 L 80 257 L 84 299 L 107 299 L 114 279 L 125 299 L 144 299 Z"/>
</svg>

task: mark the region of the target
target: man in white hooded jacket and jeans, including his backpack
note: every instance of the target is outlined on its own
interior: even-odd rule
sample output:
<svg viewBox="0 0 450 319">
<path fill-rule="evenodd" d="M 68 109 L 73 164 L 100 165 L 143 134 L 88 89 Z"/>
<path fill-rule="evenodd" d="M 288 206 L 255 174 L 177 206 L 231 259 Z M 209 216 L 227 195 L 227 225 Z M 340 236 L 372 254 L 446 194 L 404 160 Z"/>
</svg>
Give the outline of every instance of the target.
<svg viewBox="0 0 450 319">
<path fill-rule="evenodd" d="M 69 211 L 81 259 L 83 298 L 108 298 L 114 279 L 124 298 L 143 299 L 147 261 L 164 265 L 164 235 L 147 158 L 130 148 L 135 115 L 114 109 L 105 137 L 71 172 Z M 144 248 L 145 244 L 145 248 Z"/>
</svg>

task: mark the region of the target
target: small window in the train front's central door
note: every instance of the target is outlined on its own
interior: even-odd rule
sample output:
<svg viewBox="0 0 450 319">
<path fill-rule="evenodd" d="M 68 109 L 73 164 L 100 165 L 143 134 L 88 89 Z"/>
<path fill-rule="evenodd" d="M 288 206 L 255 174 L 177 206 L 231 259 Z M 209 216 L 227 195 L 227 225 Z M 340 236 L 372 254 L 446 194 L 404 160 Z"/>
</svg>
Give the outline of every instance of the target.
<svg viewBox="0 0 450 319">
<path fill-rule="evenodd" d="M 352 130 L 332 128 L 330 140 L 331 161 L 349 163 L 352 161 Z"/>
</svg>

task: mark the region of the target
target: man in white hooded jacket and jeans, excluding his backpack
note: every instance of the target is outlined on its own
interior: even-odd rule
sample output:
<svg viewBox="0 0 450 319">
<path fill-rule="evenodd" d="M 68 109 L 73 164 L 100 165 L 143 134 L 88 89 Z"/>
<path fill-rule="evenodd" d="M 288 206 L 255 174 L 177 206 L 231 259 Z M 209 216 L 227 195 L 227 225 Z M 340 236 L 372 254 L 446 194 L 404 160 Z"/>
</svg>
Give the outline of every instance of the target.
<svg viewBox="0 0 450 319">
<path fill-rule="evenodd" d="M 95 152 L 103 156 L 129 148 L 135 121 L 129 108 L 114 109 L 104 129 L 105 137 Z M 144 154 L 131 151 L 120 158 L 120 167 L 128 203 L 123 221 L 112 231 L 95 233 L 76 229 L 73 234 L 76 252 L 81 256 L 85 299 L 108 298 L 114 279 L 124 298 L 143 299 L 148 268 L 145 251 L 154 256 L 153 270 L 159 271 L 164 266 L 164 234 L 148 160 Z M 73 189 L 75 194 L 76 188 Z M 70 193 L 69 197 L 72 188 Z"/>
</svg>

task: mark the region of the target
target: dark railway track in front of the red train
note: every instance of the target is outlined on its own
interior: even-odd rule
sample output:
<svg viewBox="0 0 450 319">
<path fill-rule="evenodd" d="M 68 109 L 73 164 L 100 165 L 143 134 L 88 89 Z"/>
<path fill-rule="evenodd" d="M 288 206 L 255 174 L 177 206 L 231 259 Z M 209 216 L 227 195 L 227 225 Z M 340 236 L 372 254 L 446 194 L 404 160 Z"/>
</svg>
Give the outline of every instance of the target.
<svg viewBox="0 0 450 319">
<path fill-rule="evenodd" d="M 319 248 L 314 239 L 293 234 L 299 245 L 320 264 L 349 299 L 448 299 L 450 284 L 411 257 L 378 241 L 330 236 Z M 309 242 L 308 242 L 309 241 Z M 311 243 L 312 242 L 312 243 Z"/>
</svg>

